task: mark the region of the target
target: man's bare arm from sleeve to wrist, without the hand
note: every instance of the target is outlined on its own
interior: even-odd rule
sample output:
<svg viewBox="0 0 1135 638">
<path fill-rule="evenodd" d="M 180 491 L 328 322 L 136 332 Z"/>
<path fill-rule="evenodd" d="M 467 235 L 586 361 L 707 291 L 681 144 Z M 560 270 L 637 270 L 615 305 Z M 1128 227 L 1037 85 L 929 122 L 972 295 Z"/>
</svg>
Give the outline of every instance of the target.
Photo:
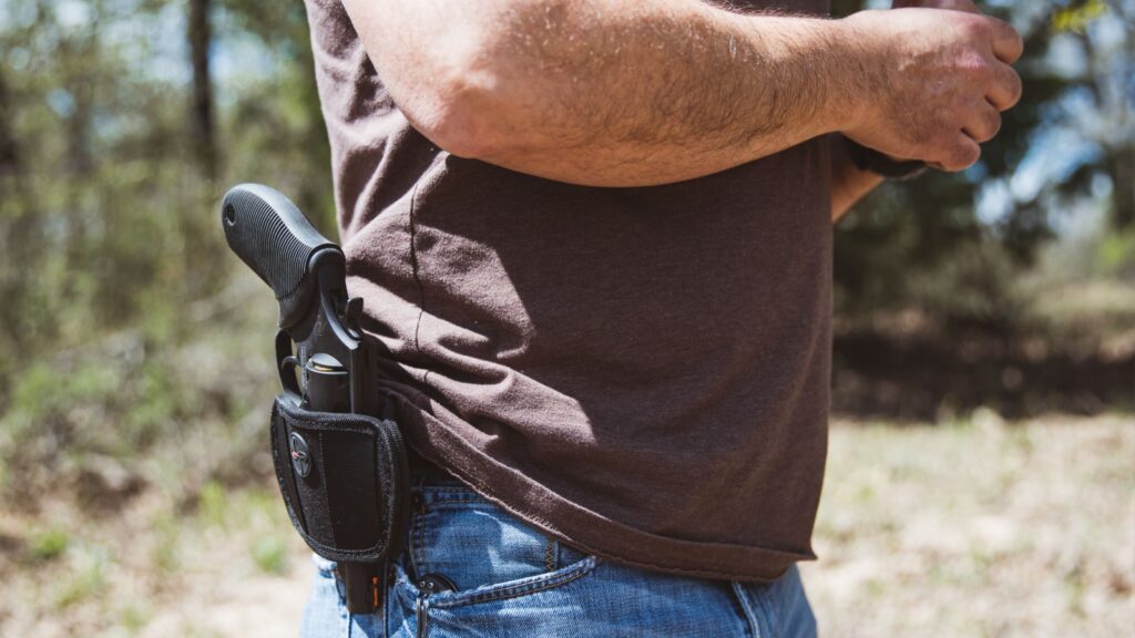
<svg viewBox="0 0 1135 638">
<path fill-rule="evenodd" d="M 415 127 L 457 156 L 563 182 L 717 173 L 842 129 L 869 84 L 834 20 L 699 0 L 481 0 L 402 7 L 437 12 L 398 25 L 368 20 L 368 3 L 346 2 Z M 422 43 L 448 51 L 424 58 Z"/>
</svg>

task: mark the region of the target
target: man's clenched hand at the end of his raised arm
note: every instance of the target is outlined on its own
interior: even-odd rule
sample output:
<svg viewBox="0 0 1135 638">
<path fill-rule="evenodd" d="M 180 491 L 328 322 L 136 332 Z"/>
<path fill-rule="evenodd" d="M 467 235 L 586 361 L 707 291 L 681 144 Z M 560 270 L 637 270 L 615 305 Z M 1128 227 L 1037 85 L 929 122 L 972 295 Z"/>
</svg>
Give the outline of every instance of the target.
<svg viewBox="0 0 1135 638">
<path fill-rule="evenodd" d="M 843 133 L 896 158 L 962 170 L 981 157 L 978 143 L 997 135 L 1000 111 L 1020 99 L 1020 77 L 1009 65 L 1024 45 L 1011 26 L 977 15 L 968 0 L 931 1 L 958 10 L 901 8 L 846 18 L 883 64 L 872 99 Z"/>
</svg>

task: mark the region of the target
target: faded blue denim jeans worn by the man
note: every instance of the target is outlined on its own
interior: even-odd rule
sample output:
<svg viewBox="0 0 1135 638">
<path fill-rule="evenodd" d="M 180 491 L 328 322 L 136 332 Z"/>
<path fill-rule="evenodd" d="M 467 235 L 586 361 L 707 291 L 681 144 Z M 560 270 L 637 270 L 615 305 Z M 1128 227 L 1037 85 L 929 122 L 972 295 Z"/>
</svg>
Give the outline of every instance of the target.
<svg viewBox="0 0 1135 638">
<path fill-rule="evenodd" d="M 317 557 L 304 638 L 806 638 L 793 566 L 771 585 L 649 572 L 583 554 L 456 481 L 418 486 L 382 608 L 352 615 Z"/>
</svg>

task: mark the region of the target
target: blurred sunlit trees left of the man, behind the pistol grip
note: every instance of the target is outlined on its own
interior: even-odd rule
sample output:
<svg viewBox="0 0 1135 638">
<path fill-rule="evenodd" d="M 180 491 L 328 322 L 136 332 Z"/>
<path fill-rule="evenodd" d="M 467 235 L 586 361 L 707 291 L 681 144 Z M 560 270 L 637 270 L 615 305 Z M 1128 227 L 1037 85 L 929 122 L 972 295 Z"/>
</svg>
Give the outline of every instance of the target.
<svg viewBox="0 0 1135 638">
<path fill-rule="evenodd" d="M 196 334 L 232 267 L 220 184 L 299 193 L 328 229 L 302 3 L 0 0 L 0 404 L 54 352 Z"/>
</svg>

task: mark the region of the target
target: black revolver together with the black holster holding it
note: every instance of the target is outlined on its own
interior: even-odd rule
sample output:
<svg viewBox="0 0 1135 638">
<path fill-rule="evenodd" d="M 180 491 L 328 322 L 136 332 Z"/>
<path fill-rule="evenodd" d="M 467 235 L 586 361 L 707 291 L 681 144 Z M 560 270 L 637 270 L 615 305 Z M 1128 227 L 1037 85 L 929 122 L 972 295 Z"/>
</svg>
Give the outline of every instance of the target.
<svg viewBox="0 0 1135 638">
<path fill-rule="evenodd" d="M 346 286 L 346 255 L 278 191 L 242 184 L 220 207 L 225 240 L 279 304 L 272 460 L 296 531 L 336 561 L 351 613 L 370 613 L 400 549 L 409 486 L 398 427 L 372 396 L 363 300 Z M 308 408 L 314 408 L 309 410 Z M 326 410 L 326 412 L 325 412 Z"/>
</svg>

